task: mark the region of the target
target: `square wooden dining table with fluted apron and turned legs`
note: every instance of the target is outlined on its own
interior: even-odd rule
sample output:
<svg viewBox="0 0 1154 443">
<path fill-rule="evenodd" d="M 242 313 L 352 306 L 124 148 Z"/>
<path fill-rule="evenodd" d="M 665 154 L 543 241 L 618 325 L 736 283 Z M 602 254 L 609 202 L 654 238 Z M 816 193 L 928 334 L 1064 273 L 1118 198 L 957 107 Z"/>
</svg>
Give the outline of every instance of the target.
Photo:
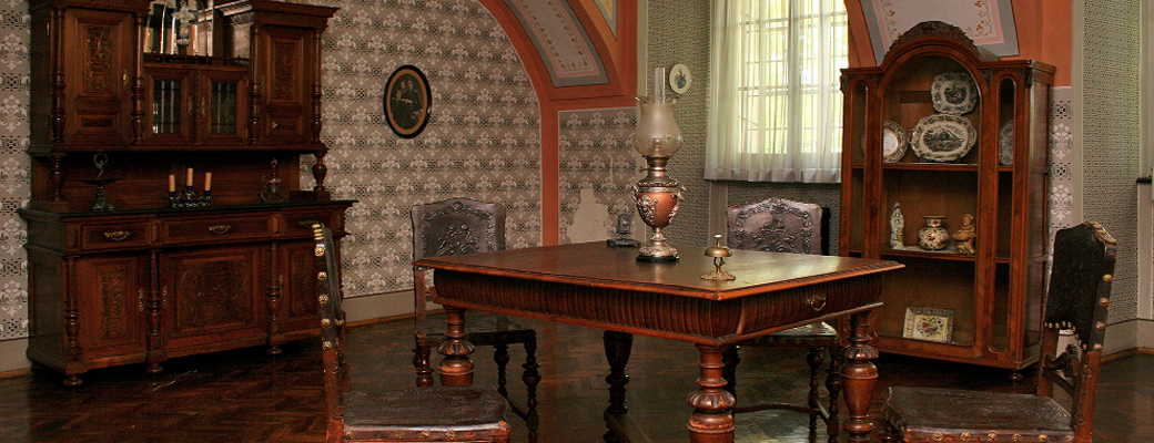
<svg viewBox="0 0 1154 443">
<path fill-rule="evenodd" d="M 435 269 L 434 301 L 448 314 L 439 352 L 442 384 L 471 384 L 473 346 L 465 311 L 478 310 L 605 330 L 609 362 L 610 438 L 628 441 L 625 364 L 634 334 L 692 343 L 700 376 L 688 403 L 689 441 L 733 442 L 734 397 L 722 388 L 722 351 L 737 342 L 817 321 L 849 316 L 841 377 L 850 442 L 867 442 L 874 425 L 877 351 L 868 313 L 879 307 L 883 277 L 902 265 L 874 259 L 733 251 L 724 270 L 736 278 L 703 280 L 715 270 L 704 247 L 675 245 L 673 262 L 638 261 L 636 247 L 600 243 L 527 247 L 426 258 Z M 687 365 L 695 364 L 685 361 Z"/>
</svg>

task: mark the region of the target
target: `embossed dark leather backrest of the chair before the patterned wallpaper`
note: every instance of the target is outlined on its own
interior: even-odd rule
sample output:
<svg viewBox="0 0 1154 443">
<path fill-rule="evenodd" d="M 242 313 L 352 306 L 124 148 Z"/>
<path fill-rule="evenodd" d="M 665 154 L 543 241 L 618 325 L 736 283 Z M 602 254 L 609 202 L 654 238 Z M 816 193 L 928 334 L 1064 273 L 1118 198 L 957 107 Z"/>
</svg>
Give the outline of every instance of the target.
<svg viewBox="0 0 1154 443">
<path fill-rule="evenodd" d="M 413 260 L 504 249 L 501 204 L 454 198 L 413 206 Z"/>
</svg>

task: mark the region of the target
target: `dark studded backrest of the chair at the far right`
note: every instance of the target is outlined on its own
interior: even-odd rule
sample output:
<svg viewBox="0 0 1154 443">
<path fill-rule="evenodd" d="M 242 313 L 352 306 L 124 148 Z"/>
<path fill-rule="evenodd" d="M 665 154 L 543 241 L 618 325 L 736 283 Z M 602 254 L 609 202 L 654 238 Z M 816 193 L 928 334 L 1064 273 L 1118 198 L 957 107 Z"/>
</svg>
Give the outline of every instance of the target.
<svg viewBox="0 0 1154 443">
<path fill-rule="evenodd" d="M 1070 395 L 1070 420 L 1078 441 L 1091 438 L 1117 250 L 1114 238 L 1095 222 L 1059 230 L 1054 239 L 1037 394 L 1051 396 L 1058 385 Z M 1059 349 L 1064 329 L 1073 330 L 1077 345 Z"/>
</svg>

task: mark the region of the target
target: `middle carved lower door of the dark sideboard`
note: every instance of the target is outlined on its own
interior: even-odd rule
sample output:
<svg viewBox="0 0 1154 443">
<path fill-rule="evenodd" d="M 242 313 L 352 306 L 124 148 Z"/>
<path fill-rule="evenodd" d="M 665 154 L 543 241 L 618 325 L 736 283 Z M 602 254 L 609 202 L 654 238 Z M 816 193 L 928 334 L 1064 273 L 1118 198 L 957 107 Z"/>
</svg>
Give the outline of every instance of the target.
<svg viewBox="0 0 1154 443">
<path fill-rule="evenodd" d="M 268 250 L 261 245 L 174 251 L 160 257 L 164 347 L 264 342 Z M 235 343 L 233 343 L 235 344 Z"/>
</svg>

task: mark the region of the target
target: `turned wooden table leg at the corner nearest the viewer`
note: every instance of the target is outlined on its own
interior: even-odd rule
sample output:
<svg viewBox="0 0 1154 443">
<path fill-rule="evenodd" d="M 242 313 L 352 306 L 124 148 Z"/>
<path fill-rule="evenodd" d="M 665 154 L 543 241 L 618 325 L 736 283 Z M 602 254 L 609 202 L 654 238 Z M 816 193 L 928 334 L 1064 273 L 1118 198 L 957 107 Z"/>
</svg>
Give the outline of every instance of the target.
<svg viewBox="0 0 1154 443">
<path fill-rule="evenodd" d="M 702 375 L 697 379 L 700 388 L 689 395 L 689 405 L 694 413 L 689 415 L 689 441 L 691 443 L 732 443 L 733 442 L 733 394 L 724 390 L 725 379 L 721 371 L 725 367 L 721 353 L 726 346 L 698 344 L 702 354 Z"/>
</svg>

